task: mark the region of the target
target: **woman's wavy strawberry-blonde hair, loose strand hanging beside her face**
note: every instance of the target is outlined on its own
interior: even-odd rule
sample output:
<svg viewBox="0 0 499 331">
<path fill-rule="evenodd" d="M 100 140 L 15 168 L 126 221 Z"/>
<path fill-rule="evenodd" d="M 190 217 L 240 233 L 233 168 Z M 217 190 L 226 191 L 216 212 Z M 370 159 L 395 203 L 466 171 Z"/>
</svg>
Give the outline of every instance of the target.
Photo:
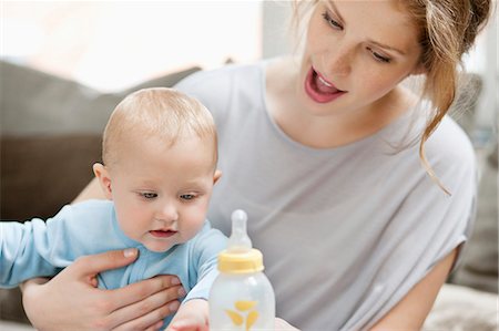
<svg viewBox="0 0 499 331">
<path fill-rule="evenodd" d="M 305 11 L 320 0 L 295 1 L 293 23 L 299 30 Z M 419 143 L 419 157 L 430 177 L 447 193 L 425 155 L 425 143 L 440 124 L 456 99 L 462 54 L 469 51 L 485 27 L 491 0 L 399 0 L 419 31 L 421 58 L 426 73 L 421 97 L 434 105 Z"/>
</svg>

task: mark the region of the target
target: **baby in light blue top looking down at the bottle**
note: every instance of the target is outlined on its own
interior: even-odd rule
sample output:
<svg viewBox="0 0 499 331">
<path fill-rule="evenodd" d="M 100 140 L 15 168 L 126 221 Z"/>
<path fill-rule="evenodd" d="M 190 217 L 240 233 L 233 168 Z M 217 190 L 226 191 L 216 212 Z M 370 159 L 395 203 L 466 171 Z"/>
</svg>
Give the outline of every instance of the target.
<svg viewBox="0 0 499 331">
<path fill-rule="evenodd" d="M 0 224 L 0 287 L 54 276 L 80 256 L 136 248 L 139 259 L 100 273 L 99 287 L 176 275 L 187 294 L 170 328 L 207 330 L 207 294 L 226 244 L 205 219 L 221 176 L 212 115 L 171 89 L 134 92 L 109 120 L 102 159 L 93 172 L 108 200 L 64 206 L 47 223 Z"/>
</svg>

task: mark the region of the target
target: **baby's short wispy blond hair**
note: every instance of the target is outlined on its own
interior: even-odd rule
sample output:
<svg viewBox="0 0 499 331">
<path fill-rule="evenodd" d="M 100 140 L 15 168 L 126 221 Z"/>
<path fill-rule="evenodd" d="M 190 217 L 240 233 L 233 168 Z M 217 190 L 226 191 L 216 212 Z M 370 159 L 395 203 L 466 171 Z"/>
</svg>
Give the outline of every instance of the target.
<svg viewBox="0 0 499 331">
<path fill-rule="evenodd" d="M 143 89 L 123 99 L 111 114 L 103 135 L 102 161 L 105 165 L 115 163 L 119 144 L 129 139 L 154 137 L 172 146 L 179 138 L 192 135 L 212 139 L 216 164 L 217 136 L 210 111 L 182 92 Z"/>
</svg>

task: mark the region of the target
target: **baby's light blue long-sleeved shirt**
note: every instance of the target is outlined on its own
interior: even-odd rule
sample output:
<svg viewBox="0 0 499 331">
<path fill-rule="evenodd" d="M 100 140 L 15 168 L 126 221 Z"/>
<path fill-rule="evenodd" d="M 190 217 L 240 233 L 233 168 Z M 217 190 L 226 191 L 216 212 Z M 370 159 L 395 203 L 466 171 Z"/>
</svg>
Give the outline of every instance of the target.
<svg viewBox="0 0 499 331">
<path fill-rule="evenodd" d="M 45 221 L 0 223 L 0 287 L 54 276 L 77 258 L 108 250 L 138 248 L 139 258 L 130 266 L 99 275 L 99 287 L 116 289 L 157 275 L 176 275 L 187 294 L 184 301 L 207 299 L 216 271 L 218 252 L 226 237 L 206 220 L 202 230 L 183 245 L 165 252 L 147 250 L 121 230 L 114 205 L 89 200 L 64 206 Z M 172 317 L 165 319 L 165 325 Z"/>
</svg>

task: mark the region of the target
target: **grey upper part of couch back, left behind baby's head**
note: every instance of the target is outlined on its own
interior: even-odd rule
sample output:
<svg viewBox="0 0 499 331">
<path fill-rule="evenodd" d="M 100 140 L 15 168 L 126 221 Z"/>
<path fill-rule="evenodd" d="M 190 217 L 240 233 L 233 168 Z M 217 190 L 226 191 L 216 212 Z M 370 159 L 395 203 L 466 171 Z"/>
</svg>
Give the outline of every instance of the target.
<svg viewBox="0 0 499 331">
<path fill-rule="evenodd" d="M 1 134 L 101 135 L 109 115 L 129 93 L 173 86 L 200 70 L 189 68 L 115 93 L 101 93 L 74 81 L 0 61 Z"/>
</svg>

